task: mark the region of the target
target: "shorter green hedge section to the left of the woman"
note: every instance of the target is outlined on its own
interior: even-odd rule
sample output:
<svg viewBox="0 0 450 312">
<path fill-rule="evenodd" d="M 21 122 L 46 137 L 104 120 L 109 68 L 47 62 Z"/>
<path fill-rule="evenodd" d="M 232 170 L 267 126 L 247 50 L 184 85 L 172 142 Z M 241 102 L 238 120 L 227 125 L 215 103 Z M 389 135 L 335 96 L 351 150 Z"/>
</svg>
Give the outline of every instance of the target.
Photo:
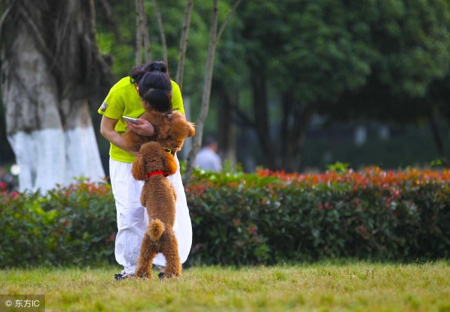
<svg viewBox="0 0 450 312">
<path fill-rule="evenodd" d="M 117 232 L 108 184 L 79 181 L 46 196 L 0 196 L 0 267 L 94 265 L 114 261 Z"/>
</svg>

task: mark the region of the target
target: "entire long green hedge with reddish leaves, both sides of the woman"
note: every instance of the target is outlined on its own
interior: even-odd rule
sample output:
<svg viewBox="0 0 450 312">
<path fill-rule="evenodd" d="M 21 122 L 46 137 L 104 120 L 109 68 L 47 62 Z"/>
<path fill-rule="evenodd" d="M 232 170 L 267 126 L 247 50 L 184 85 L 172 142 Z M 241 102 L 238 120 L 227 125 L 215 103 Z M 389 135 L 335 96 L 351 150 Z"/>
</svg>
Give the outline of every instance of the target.
<svg viewBox="0 0 450 312">
<path fill-rule="evenodd" d="M 449 259 L 449 171 L 195 173 L 188 264 Z M 114 263 L 108 184 L 0 195 L 0 267 Z"/>
</svg>

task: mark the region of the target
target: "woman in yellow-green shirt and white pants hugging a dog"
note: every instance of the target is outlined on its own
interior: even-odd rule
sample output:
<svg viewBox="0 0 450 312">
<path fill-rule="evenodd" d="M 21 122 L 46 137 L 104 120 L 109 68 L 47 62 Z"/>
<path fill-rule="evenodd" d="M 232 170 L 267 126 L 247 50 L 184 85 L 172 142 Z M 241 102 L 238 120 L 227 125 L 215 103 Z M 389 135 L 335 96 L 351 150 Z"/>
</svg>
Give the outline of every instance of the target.
<svg viewBox="0 0 450 312">
<path fill-rule="evenodd" d="M 98 109 L 98 112 L 103 115 L 100 132 L 111 143 L 110 178 L 117 209 L 118 228 L 115 259 L 124 267 L 120 274 L 115 275 L 116 280 L 134 275 L 141 241 L 148 226 L 148 216 L 139 201 L 143 181 L 136 181 L 131 176 L 131 164 L 137 153 L 127 150 L 120 135 L 129 127 L 137 134 L 153 136 L 155 133 L 153 125 L 139 116 L 145 112 L 144 103 L 148 103 L 160 112 L 171 109 L 165 105 L 167 102 L 155 97 L 155 92 L 160 93 L 160 91 L 172 98 L 172 109 L 184 114 L 179 86 L 169 79 L 167 65 L 163 62 L 153 62 L 131 70 L 129 77 L 120 79 L 110 89 L 108 96 Z M 139 124 L 124 122 L 122 116 L 138 117 Z M 177 158 L 176 163 L 178 166 L 176 174 L 168 178 L 176 190 L 174 233 L 178 240 L 181 263 L 184 263 L 191 250 L 192 226 Z M 164 272 L 165 258 L 162 254 L 158 254 L 153 264 L 160 268 L 161 273 Z"/>
</svg>

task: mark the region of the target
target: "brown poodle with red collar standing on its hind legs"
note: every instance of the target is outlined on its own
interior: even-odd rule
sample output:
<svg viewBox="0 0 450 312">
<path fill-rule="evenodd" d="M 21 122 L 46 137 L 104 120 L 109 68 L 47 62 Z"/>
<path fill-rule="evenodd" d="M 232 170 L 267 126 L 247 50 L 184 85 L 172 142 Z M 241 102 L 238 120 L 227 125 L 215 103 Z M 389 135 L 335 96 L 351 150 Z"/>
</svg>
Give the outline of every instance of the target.
<svg viewBox="0 0 450 312">
<path fill-rule="evenodd" d="M 165 175 L 153 172 L 164 171 Z M 174 234 L 176 193 L 166 176 L 176 172 L 174 155 L 163 150 L 158 142 L 142 145 L 131 174 L 136 180 L 146 181 L 141 192 L 141 204 L 148 213 L 148 230 L 144 235 L 135 276 L 151 278 L 153 259 L 162 253 L 167 261 L 165 278 L 181 275 L 178 242 Z"/>
</svg>

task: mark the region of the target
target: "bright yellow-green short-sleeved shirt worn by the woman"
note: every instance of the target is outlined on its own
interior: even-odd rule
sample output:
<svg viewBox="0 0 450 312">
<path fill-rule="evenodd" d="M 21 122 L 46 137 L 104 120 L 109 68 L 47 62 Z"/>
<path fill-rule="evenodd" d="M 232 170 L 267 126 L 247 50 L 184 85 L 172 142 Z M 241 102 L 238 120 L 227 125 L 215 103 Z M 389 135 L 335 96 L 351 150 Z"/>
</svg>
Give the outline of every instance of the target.
<svg viewBox="0 0 450 312">
<path fill-rule="evenodd" d="M 183 98 L 181 98 L 181 91 L 172 81 L 172 108 L 184 114 Z M 142 107 L 141 97 L 136 91 L 136 86 L 131 84 L 130 77 L 124 77 L 117 82 L 106 96 L 103 104 L 98 108 L 98 113 L 111 119 L 119 119 L 115 125 L 115 131 L 123 134 L 127 131 L 127 124 L 125 124 L 122 116 L 140 117 L 145 110 Z M 133 154 L 118 148 L 113 143 L 110 144 L 110 157 L 117 162 L 134 162 L 136 158 Z"/>
</svg>

